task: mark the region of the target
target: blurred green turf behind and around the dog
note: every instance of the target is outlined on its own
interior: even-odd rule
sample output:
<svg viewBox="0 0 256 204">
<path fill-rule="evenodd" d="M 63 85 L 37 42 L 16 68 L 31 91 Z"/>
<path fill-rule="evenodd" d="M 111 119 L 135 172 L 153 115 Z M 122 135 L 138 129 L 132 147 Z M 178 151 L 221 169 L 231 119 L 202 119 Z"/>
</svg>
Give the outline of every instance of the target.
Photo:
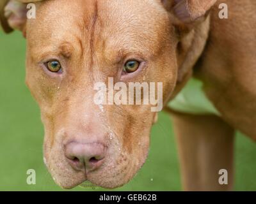
<svg viewBox="0 0 256 204">
<path fill-rule="evenodd" d="M 26 41 L 20 33 L 0 33 L 0 190 L 62 191 L 47 172 L 42 156 L 40 112 L 24 84 Z M 152 129 L 150 155 L 136 177 L 117 190 L 180 191 L 179 162 L 166 113 Z M 237 191 L 256 190 L 256 145 L 237 133 Z M 36 170 L 36 185 L 26 183 L 28 169 Z M 86 191 L 76 187 L 74 191 Z M 92 189 L 87 189 L 92 191 Z M 102 189 L 97 189 L 102 190 Z"/>
</svg>

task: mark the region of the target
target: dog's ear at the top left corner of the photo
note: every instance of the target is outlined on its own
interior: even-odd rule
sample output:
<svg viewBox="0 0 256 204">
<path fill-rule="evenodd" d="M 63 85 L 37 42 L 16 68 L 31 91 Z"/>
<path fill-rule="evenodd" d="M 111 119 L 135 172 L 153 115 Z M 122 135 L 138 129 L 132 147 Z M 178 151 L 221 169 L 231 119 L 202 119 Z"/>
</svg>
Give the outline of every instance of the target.
<svg viewBox="0 0 256 204">
<path fill-rule="evenodd" d="M 19 30 L 25 36 L 28 11 L 26 6 L 27 4 L 16 0 L 1 0 L 0 21 L 5 33 Z"/>
</svg>

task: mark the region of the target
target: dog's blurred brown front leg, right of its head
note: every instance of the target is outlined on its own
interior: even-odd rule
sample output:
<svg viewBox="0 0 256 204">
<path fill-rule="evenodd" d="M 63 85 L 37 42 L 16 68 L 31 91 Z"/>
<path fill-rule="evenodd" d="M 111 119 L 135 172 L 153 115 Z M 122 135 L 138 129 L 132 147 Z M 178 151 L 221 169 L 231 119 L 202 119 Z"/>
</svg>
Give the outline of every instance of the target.
<svg viewBox="0 0 256 204">
<path fill-rule="evenodd" d="M 184 190 L 232 190 L 234 129 L 214 115 L 172 113 L 172 119 Z M 219 182 L 221 169 L 228 172 L 228 184 Z"/>
</svg>

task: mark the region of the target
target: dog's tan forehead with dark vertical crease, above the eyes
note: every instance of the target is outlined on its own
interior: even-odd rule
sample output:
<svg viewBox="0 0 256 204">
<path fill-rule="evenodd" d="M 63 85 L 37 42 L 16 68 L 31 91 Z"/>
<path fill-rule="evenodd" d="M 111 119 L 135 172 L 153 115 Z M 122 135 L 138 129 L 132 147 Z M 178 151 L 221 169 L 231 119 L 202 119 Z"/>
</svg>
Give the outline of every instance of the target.
<svg viewBox="0 0 256 204">
<path fill-rule="evenodd" d="M 36 19 L 28 21 L 28 40 L 40 45 L 80 38 L 163 41 L 168 15 L 158 0 L 50 0 L 37 4 Z M 166 31 L 167 32 L 167 31 Z M 112 38 L 112 39 L 111 39 Z M 106 39 L 107 40 L 107 39 Z M 43 43 L 43 45 L 42 45 Z"/>
</svg>

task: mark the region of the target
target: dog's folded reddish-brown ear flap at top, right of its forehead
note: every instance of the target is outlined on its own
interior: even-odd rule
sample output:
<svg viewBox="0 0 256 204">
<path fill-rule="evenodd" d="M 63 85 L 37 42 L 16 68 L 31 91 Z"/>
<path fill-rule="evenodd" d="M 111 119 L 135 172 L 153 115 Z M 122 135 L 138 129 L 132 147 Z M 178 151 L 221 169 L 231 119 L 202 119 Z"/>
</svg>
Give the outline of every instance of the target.
<svg viewBox="0 0 256 204">
<path fill-rule="evenodd" d="M 204 17 L 217 0 L 161 0 L 167 10 L 183 23 L 189 24 Z"/>
</svg>

